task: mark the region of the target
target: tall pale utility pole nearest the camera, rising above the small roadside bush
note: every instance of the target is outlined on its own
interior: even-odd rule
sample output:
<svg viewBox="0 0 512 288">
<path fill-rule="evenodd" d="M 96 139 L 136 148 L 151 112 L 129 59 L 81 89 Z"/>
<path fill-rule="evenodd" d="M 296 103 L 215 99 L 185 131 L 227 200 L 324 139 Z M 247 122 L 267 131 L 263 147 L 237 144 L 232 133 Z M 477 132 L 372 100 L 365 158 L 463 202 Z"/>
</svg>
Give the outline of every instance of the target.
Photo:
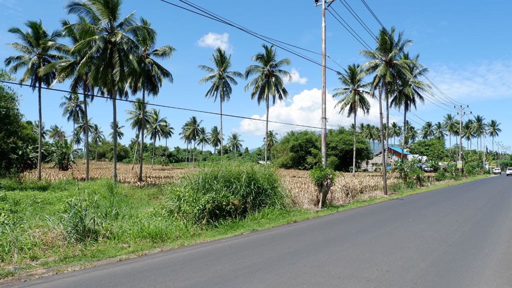
<svg viewBox="0 0 512 288">
<path fill-rule="evenodd" d="M 322 1 L 322 3 L 320 3 Z M 326 107 L 326 25 L 325 10 L 331 6 L 334 0 L 315 0 L 315 6 L 322 5 L 322 164 L 327 167 L 327 107 Z M 327 5 L 327 6 L 326 6 Z"/>
</svg>

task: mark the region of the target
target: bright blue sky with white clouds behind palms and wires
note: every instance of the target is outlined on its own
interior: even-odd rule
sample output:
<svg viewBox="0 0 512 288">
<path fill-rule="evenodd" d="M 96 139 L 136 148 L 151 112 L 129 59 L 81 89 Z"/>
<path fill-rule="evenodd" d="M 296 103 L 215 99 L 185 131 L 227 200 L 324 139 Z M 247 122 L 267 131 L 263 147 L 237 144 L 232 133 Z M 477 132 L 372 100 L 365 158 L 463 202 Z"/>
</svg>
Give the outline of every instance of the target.
<svg viewBox="0 0 512 288">
<path fill-rule="evenodd" d="M 26 20 L 41 19 L 48 30 L 59 28 L 63 18 L 75 19 L 64 11 L 65 0 L 0 0 L 0 59 L 14 55 L 10 47 L 3 43 L 13 42 L 15 38 L 7 30 L 17 26 L 22 29 Z M 178 3 L 176 0 L 170 2 Z M 313 6 L 313 0 L 285 1 L 227 1 L 195 0 L 196 4 L 216 12 L 246 28 L 260 34 L 293 43 L 313 51 L 321 48 L 321 10 Z M 378 23 L 359 0 L 349 1 L 357 14 L 370 29 L 377 33 Z M 420 61 L 430 69 L 429 78 L 441 90 L 456 101 L 470 105 L 474 114 L 483 115 L 486 121 L 496 119 L 501 123 L 503 132 L 496 141 L 505 145 L 512 142 L 512 122 L 507 121 L 509 106 L 507 100 L 512 97 L 512 40 L 509 27 L 512 26 L 512 3 L 508 1 L 376 1 L 367 3 L 387 26 L 396 26 L 404 31 L 405 36 L 414 41 L 410 47 L 412 54 L 420 54 Z M 374 42 L 339 1 L 333 3 L 335 9 L 368 42 Z M 174 56 L 163 61 L 165 67 L 173 73 L 174 83 L 165 83 L 158 98 L 150 102 L 208 110 L 218 112 L 218 102 L 205 99 L 207 84 L 200 85 L 198 80 L 204 72 L 197 67 L 200 64 L 211 65 L 210 57 L 215 47 L 221 46 L 232 54 L 232 69 L 245 71 L 251 64 L 251 57 L 262 50 L 262 41 L 234 28 L 214 22 L 210 19 L 191 14 L 158 0 L 124 0 L 123 14 L 136 11 L 136 15 L 151 21 L 158 32 L 158 46 L 172 45 L 176 48 Z M 337 63 L 346 67 L 350 63 L 364 63 L 359 55 L 362 46 L 332 16 L 327 14 L 327 53 Z M 303 124 L 320 125 L 320 91 L 321 68 L 313 63 L 296 57 L 286 51 L 278 50 L 281 58 L 291 59 L 288 68 L 293 72 L 292 82 L 287 84 L 289 98 L 277 103 L 270 109 L 270 120 Z M 319 60 L 319 55 L 307 54 Z M 328 66 L 340 70 L 328 61 Z M 265 117 L 265 107 L 250 99 L 244 91 L 245 80 L 233 87 L 231 101 L 225 103 L 224 113 L 245 117 Z M 336 75 L 327 73 L 327 88 L 330 93 L 338 87 Z M 25 116 L 37 118 L 37 97 L 30 88 L 15 87 L 23 95 L 21 109 Z M 67 83 L 55 88 L 67 89 Z M 437 91 L 436 94 L 440 95 Z M 330 95 L 330 94 L 329 94 Z M 58 108 L 63 93 L 44 91 L 42 113 L 46 127 L 52 124 L 62 126 L 68 133 L 72 124 L 61 117 Z M 135 97 L 132 97 L 134 99 Z M 444 99 L 444 98 L 443 98 Z M 358 122 L 378 123 L 378 104 L 372 101 L 369 116 L 359 117 Z M 338 114 L 334 100 L 328 99 L 329 127 L 348 126 L 351 118 Z M 452 104 L 448 103 L 452 106 Z M 442 106 L 442 105 L 441 105 Z M 444 106 L 445 107 L 445 106 Z M 118 120 L 126 125 L 124 110 L 130 109 L 130 103 L 118 104 Z M 415 114 L 425 121 L 441 121 L 449 113 L 426 102 L 419 105 Z M 203 125 L 210 129 L 219 125 L 219 117 L 201 113 L 161 108 L 161 114 L 176 128 L 176 135 L 169 140 L 169 146 L 184 146 L 179 140 L 183 123 L 190 116 L 203 120 Z M 102 99 L 91 104 L 89 115 L 108 135 L 109 123 L 112 121 L 112 105 Z M 419 128 L 424 121 L 411 115 L 413 124 Z M 391 119 L 401 124 L 401 113 L 392 110 Z M 417 123 L 415 123 L 417 122 Z M 293 126 L 270 125 L 280 135 L 284 135 Z M 260 121 L 224 118 L 225 138 L 233 132 L 239 132 L 245 141 L 244 146 L 254 148 L 262 145 L 265 123 Z M 134 132 L 124 128 L 128 143 L 134 138 Z M 163 141 L 161 142 L 163 144 Z M 488 141 L 490 146 L 490 140 Z"/>
</svg>

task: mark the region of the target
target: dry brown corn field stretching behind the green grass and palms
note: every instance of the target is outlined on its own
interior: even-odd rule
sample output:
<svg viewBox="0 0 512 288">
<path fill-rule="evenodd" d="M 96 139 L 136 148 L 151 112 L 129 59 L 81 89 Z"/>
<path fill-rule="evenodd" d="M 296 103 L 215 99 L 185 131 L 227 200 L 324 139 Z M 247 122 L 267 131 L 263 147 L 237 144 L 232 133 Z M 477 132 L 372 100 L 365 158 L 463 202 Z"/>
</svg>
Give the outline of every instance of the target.
<svg viewBox="0 0 512 288">
<path fill-rule="evenodd" d="M 155 165 L 153 169 L 149 165 L 144 165 L 144 182 L 138 183 L 138 167 L 132 170 L 131 164 L 117 165 L 118 181 L 123 184 L 134 186 L 142 185 L 158 185 L 168 182 L 176 182 L 187 172 L 194 171 L 192 168 L 180 167 L 162 167 Z M 36 178 L 37 171 L 32 170 L 26 172 L 24 178 Z M 41 171 L 41 176 L 49 181 L 58 181 L 63 179 L 85 179 L 85 165 L 79 163 L 70 171 L 59 171 L 52 168 L 51 164 L 45 164 Z M 279 176 L 283 187 L 292 196 L 293 202 L 305 208 L 312 208 L 318 203 L 317 190 L 314 184 L 309 180 L 308 171 L 300 170 L 279 170 Z M 111 178 L 112 163 L 98 162 L 91 163 L 90 178 Z M 399 183 L 397 175 L 388 176 L 388 187 Z M 428 185 L 429 183 L 426 183 Z M 391 191 L 389 191 L 392 193 Z M 336 205 L 348 204 L 357 200 L 366 200 L 370 197 L 382 195 L 382 176 L 379 173 L 339 173 L 337 175 L 335 185 L 331 188 L 328 196 L 328 202 Z"/>
</svg>

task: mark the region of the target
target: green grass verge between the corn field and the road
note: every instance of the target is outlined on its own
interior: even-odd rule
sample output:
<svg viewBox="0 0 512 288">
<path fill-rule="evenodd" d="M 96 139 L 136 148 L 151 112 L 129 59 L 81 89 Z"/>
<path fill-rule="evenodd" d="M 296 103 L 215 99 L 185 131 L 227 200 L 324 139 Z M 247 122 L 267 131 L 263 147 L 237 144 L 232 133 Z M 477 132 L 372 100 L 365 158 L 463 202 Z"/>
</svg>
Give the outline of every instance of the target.
<svg viewBox="0 0 512 288">
<path fill-rule="evenodd" d="M 473 181 L 484 176 L 402 190 L 390 196 L 329 206 L 321 211 L 293 207 L 264 208 L 245 218 L 220 219 L 210 225 L 177 220 L 162 213 L 176 185 L 135 188 L 109 180 L 55 183 L 0 180 L 0 279 L 37 268 L 76 265 L 128 254 L 141 255 L 156 248 L 172 249 L 202 241 L 248 233 L 407 195 Z M 97 238 L 72 240 L 62 221 L 67 202 L 82 198 L 91 215 L 101 221 Z M 119 211 L 117 214 L 113 211 Z M 117 215 L 117 216 L 116 216 Z"/>
</svg>

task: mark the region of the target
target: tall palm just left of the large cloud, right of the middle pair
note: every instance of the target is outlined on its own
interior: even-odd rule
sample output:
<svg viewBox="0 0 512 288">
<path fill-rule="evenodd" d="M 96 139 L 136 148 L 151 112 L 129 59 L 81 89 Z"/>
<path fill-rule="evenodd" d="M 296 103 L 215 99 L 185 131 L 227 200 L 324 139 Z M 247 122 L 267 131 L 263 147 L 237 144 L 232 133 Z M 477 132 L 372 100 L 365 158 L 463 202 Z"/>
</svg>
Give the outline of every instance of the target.
<svg viewBox="0 0 512 288">
<path fill-rule="evenodd" d="M 274 46 L 263 45 L 263 53 L 258 53 L 252 57 L 252 61 L 257 64 L 249 65 L 245 70 L 245 78 L 255 76 L 245 86 L 245 91 L 251 90 L 251 99 L 256 98 L 258 105 L 265 102 L 267 108 L 266 121 L 265 121 L 265 139 L 268 139 L 268 113 L 270 98 L 272 104 L 275 104 L 275 99 L 284 100 L 288 97 L 288 91 L 285 88 L 282 77 L 287 77 L 291 81 L 291 74 L 283 70 L 282 67 L 290 65 L 291 61 L 288 58 L 278 60 L 278 53 Z M 268 159 L 268 151 L 265 144 L 265 163 Z"/>
</svg>

